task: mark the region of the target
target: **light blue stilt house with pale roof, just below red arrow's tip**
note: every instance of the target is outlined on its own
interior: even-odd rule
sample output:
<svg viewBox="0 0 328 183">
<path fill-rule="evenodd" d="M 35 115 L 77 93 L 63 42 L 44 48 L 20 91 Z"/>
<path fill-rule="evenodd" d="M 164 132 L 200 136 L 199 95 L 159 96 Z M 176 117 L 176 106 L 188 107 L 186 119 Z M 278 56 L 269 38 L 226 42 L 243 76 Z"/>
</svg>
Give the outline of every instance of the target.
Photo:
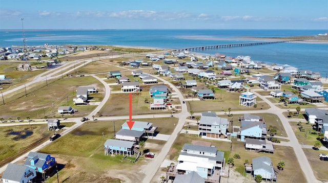
<svg viewBox="0 0 328 183">
<path fill-rule="evenodd" d="M 104 149 L 105 155 L 126 154 L 131 156 L 134 154 L 134 142 L 108 139 L 104 144 Z"/>
</svg>

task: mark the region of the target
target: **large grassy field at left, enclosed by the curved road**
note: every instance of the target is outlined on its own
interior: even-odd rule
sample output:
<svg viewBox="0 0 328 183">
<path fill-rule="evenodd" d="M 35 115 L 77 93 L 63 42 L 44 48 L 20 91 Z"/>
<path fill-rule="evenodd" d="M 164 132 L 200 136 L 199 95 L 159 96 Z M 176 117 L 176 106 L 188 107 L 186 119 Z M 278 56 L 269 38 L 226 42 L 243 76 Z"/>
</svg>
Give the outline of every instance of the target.
<svg viewBox="0 0 328 183">
<path fill-rule="evenodd" d="M 5 105 L 1 103 L 0 110 L 6 111 L 2 113 L 0 118 L 16 119 L 42 119 L 45 116 L 52 118 L 60 117 L 57 113 L 59 106 L 70 105 L 78 112 L 70 115 L 70 117 L 85 116 L 96 106 L 84 105 L 74 106 L 73 98 L 76 97 L 76 88 L 78 86 L 93 85 L 98 88 L 98 94 L 91 94 L 92 100 L 101 101 L 103 99 L 103 85 L 93 77 L 72 77 L 64 79 L 49 80 L 48 86 L 45 82 L 36 83 L 31 87 L 27 87 L 27 96 L 25 90 L 20 89 L 15 93 L 5 96 Z"/>
</svg>

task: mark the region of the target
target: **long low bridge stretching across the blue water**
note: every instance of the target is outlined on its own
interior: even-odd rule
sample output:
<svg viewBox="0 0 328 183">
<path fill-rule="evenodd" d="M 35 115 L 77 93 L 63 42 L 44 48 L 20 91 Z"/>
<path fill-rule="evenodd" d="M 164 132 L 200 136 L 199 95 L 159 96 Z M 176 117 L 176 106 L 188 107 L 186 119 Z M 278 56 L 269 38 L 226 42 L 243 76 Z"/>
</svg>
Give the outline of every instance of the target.
<svg viewBox="0 0 328 183">
<path fill-rule="evenodd" d="M 316 39 L 316 38 L 311 38 L 311 39 Z M 269 42 L 217 44 L 217 45 L 207 45 L 207 46 L 201 46 L 201 47 L 175 49 L 173 51 L 182 52 L 182 51 L 199 51 L 199 50 L 220 49 L 220 48 L 247 47 L 250 45 L 275 44 L 275 43 L 282 43 L 282 42 L 304 41 L 304 40 L 311 40 L 311 39 L 293 39 L 293 40 L 281 40 L 281 41 L 269 41 Z"/>
</svg>

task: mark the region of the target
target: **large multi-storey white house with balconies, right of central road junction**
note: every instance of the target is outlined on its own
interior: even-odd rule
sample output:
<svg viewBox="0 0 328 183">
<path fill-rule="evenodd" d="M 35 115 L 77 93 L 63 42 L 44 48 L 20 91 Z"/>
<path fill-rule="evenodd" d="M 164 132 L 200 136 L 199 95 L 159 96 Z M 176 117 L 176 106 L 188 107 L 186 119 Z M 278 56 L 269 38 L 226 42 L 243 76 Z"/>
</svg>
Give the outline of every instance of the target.
<svg viewBox="0 0 328 183">
<path fill-rule="evenodd" d="M 227 118 L 220 118 L 215 112 L 201 112 L 198 131 L 199 135 L 207 138 L 227 138 L 229 122 Z"/>
</svg>

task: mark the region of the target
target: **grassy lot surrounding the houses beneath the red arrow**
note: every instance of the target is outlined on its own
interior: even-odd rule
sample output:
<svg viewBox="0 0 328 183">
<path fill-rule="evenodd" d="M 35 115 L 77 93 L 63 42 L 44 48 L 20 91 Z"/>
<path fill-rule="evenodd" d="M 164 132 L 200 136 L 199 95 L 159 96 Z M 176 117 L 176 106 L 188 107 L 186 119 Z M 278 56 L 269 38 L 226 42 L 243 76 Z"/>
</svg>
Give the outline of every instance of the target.
<svg viewBox="0 0 328 183">
<path fill-rule="evenodd" d="M 156 118 L 138 119 L 138 121 L 151 122 L 153 126 L 158 127 L 158 131 L 161 134 L 171 134 L 174 129 L 173 123 L 177 123 L 178 119 Z M 120 126 L 124 122 L 125 120 L 115 121 L 116 131 L 120 129 Z M 59 164 L 65 165 L 65 168 L 59 171 L 60 182 L 64 180 L 68 182 L 120 182 L 119 179 L 112 178 L 117 176 L 115 173 L 106 172 L 117 170 L 121 171 L 121 174 L 124 174 L 128 170 L 131 170 L 131 172 L 138 171 L 138 167 L 145 165 L 147 161 L 144 160 L 143 156 L 137 162 L 131 163 L 130 161 L 122 160 L 122 155 L 104 155 L 104 143 L 107 139 L 113 139 L 113 135 L 113 121 L 90 121 L 54 141 L 49 146 L 40 150 L 40 152 L 52 154 L 56 157 L 56 161 Z M 150 138 L 146 141 L 145 149 L 152 152 L 159 152 L 165 143 L 165 141 Z M 85 179 L 81 179 L 77 175 L 84 175 L 83 177 Z M 93 180 L 94 177 L 98 176 L 105 180 Z M 56 179 L 52 177 L 47 182 L 54 181 Z"/>
</svg>

